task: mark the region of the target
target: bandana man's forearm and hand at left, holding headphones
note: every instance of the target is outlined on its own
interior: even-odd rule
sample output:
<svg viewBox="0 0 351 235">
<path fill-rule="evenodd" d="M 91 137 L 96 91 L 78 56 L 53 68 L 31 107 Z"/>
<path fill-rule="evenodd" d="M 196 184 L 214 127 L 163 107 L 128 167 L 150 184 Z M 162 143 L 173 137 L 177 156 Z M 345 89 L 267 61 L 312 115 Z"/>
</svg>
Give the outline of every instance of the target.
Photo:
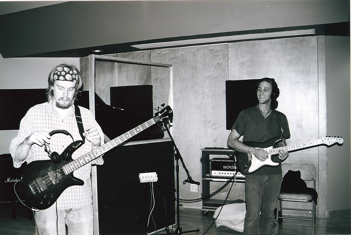
<svg viewBox="0 0 351 235">
<path fill-rule="evenodd" d="M 17 146 L 14 158 L 15 162 L 24 161 L 27 158 L 29 149 L 31 149 L 32 145 L 37 144 L 39 146 L 43 146 L 45 142 L 50 143 L 50 138 L 51 136 L 42 130 L 34 132 L 28 136 L 22 143 Z"/>
</svg>

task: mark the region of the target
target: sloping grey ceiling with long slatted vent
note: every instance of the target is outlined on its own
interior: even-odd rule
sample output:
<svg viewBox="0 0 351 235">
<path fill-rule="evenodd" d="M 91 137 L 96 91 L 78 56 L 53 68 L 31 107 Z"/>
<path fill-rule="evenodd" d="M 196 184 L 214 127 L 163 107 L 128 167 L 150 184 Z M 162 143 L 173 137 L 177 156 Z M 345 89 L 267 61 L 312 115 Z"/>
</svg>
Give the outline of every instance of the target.
<svg viewBox="0 0 351 235">
<path fill-rule="evenodd" d="M 0 2 L 3 58 L 115 54 L 143 43 L 311 28 L 315 36 L 350 36 L 350 1 Z M 219 42 L 186 46 L 210 43 Z"/>
</svg>

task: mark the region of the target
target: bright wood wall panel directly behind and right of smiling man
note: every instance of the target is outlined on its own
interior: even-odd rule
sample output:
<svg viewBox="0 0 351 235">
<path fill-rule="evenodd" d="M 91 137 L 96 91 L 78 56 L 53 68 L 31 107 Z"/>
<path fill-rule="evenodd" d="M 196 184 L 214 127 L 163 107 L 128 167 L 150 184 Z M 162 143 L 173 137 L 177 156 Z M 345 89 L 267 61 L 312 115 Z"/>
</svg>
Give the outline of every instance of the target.
<svg viewBox="0 0 351 235">
<path fill-rule="evenodd" d="M 277 110 L 289 121 L 288 145 L 319 139 L 317 37 L 229 43 L 228 58 L 230 80 L 277 81 Z M 318 154 L 318 147 L 300 150 L 290 153 L 285 162 L 312 163 L 318 176 Z"/>
</svg>

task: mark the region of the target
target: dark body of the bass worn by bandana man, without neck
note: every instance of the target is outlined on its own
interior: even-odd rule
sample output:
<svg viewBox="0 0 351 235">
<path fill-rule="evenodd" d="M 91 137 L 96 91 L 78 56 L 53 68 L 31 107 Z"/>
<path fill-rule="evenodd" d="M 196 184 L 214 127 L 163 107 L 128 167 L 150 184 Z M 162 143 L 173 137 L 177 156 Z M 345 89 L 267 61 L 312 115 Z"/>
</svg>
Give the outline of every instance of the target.
<svg viewBox="0 0 351 235">
<path fill-rule="evenodd" d="M 82 180 L 73 176 L 73 172 L 65 175 L 58 170 L 71 161 L 73 160 L 57 164 L 51 160 L 33 161 L 25 167 L 20 185 L 29 207 L 47 209 L 66 188 L 84 184 Z M 58 173 L 55 175 L 56 170 Z"/>
</svg>

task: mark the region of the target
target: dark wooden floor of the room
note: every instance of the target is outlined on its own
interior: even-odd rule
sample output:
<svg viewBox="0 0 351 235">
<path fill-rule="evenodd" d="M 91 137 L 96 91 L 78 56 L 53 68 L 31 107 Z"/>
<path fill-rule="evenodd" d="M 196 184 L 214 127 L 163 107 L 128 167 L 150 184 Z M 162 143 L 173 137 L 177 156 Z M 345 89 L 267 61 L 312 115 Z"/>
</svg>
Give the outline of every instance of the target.
<svg viewBox="0 0 351 235">
<path fill-rule="evenodd" d="M 1 203 L 3 204 L 3 203 Z M 9 203 L 6 203 L 9 205 Z M 213 222 L 213 212 L 203 215 L 200 209 L 183 208 L 179 210 L 180 227 L 185 234 L 187 231 L 200 229 L 199 232 L 190 232 L 188 234 L 203 235 Z M 317 218 L 314 228 L 314 234 L 351 234 L 351 217 L 333 217 L 333 218 Z M 278 234 L 311 234 L 312 222 L 301 220 L 284 219 L 279 225 Z M 173 233 L 176 227 L 173 229 Z M 165 234 L 165 230 L 158 232 Z M 0 234 L 1 235 L 34 235 L 35 223 L 34 219 L 28 220 L 28 212 L 22 206 L 16 206 L 16 218 L 12 218 L 11 208 L 9 206 L 0 205 Z M 118 234 L 118 233 L 116 233 Z M 156 234 L 156 233 L 155 233 Z M 233 230 L 218 231 L 216 224 L 207 231 L 207 235 L 234 235 L 241 234 Z"/>
</svg>

